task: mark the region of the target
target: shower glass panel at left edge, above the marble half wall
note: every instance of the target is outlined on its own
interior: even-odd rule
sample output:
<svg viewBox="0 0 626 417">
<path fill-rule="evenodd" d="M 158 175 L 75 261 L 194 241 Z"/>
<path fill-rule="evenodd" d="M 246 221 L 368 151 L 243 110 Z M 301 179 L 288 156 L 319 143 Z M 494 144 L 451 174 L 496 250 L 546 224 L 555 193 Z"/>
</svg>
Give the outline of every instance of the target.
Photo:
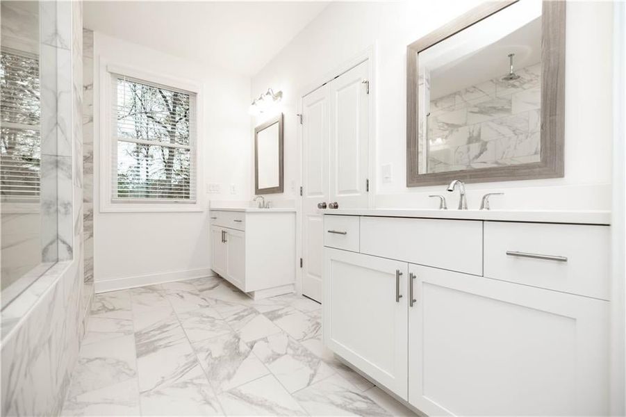
<svg viewBox="0 0 626 417">
<path fill-rule="evenodd" d="M 4 308 L 56 263 L 56 55 L 40 30 L 55 3 L 2 1 L 0 33 L 0 299 Z M 41 28 L 41 29 L 40 29 Z M 45 56 L 45 59 L 42 59 Z M 42 74 L 45 74 L 42 77 Z M 43 78 L 43 79 L 42 79 Z M 44 95 L 42 95 L 42 90 Z M 42 107 L 42 97 L 51 97 Z M 42 127 L 43 126 L 43 127 Z M 42 149 L 42 137 L 47 147 Z M 51 238 L 51 236 L 54 236 Z"/>
</svg>

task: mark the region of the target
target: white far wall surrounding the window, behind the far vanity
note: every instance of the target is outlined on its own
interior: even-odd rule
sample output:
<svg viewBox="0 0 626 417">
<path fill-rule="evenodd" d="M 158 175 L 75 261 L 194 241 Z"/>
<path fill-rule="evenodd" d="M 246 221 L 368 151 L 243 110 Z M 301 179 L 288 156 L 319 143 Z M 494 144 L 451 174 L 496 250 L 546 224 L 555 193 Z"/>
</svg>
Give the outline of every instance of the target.
<svg viewBox="0 0 626 417">
<path fill-rule="evenodd" d="M 210 273 L 208 206 L 211 199 L 248 199 L 250 81 L 226 72 L 94 33 L 94 67 L 100 60 L 137 70 L 201 84 L 204 114 L 199 141 L 203 149 L 199 178 L 201 212 L 102 213 L 99 208 L 99 103 L 102 85 L 94 88 L 97 106 L 94 138 L 94 281 L 97 291 L 167 281 Z M 96 75 L 96 80 L 99 76 Z M 104 85 L 106 88 L 107 85 Z M 219 183 L 221 193 L 206 194 L 206 184 Z M 231 193 L 234 184 L 236 192 Z"/>
</svg>

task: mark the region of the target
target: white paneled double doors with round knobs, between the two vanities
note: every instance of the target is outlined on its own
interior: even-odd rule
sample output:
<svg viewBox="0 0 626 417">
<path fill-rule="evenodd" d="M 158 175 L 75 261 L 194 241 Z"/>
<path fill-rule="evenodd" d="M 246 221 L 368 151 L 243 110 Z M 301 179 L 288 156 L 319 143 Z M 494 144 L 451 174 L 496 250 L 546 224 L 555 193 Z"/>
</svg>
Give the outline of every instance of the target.
<svg viewBox="0 0 626 417">
<path fill-rule="evenodd" d="M 331 203 L 368 206 L 368 68 L 365 61 L 302 98 L 302 293 L 320 302 L 322 213 Z"/>
</svg>

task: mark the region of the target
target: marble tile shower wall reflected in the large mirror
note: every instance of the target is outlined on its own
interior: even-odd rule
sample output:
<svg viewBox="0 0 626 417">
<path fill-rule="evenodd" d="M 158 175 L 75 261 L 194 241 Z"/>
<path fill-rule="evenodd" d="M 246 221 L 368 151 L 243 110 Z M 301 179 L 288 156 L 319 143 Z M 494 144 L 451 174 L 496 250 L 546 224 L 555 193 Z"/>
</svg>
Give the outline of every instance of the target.
<svg viewBox="0 0 626 417">
<path fill-rule="evenodd" d="M 540 160 L 541 63 L 430 101 L 429 172 Z"/>
</svg>

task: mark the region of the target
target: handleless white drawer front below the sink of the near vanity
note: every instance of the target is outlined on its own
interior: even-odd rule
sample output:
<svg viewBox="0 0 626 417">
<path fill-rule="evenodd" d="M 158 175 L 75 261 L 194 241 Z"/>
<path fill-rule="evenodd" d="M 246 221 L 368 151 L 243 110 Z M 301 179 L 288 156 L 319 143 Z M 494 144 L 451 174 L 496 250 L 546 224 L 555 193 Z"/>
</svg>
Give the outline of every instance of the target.
<svg viewBox="0 0 626 417">
<path fill-rule="evenodd" d="M 483 272 L 482 222 L 361 218 L 361 253 L 473 275 Z"/>
</svg>

